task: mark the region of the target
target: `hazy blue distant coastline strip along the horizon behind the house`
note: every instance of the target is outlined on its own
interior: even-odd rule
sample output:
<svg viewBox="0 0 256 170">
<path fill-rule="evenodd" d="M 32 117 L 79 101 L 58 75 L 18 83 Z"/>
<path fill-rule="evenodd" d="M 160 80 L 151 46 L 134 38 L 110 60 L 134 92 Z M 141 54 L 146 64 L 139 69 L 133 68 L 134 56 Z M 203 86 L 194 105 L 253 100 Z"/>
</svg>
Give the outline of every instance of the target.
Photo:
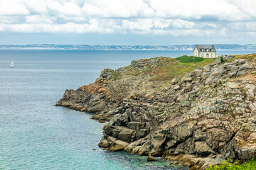
<svg viewBox="0 0 256 170">
<path fill-rule="evenodd" d="M 195 45 L 0 45 L 0 50 L 193 50 Z M 216 50 L 254 51 L 256 44 L 216 44 Z"/>
</svg>

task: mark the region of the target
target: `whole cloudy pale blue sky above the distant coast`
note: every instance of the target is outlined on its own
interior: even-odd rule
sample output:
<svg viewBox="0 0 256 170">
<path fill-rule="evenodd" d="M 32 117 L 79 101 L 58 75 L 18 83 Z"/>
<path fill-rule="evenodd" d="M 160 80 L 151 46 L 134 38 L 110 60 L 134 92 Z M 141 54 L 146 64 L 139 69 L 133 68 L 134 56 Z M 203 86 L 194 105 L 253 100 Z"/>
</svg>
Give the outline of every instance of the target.
<svg viewBox="0 0 256 170">
<path fill-rule="evenodd" d="M 256 0 L 0 0 L 0 44 L 256 44 Z"/>
</svg>

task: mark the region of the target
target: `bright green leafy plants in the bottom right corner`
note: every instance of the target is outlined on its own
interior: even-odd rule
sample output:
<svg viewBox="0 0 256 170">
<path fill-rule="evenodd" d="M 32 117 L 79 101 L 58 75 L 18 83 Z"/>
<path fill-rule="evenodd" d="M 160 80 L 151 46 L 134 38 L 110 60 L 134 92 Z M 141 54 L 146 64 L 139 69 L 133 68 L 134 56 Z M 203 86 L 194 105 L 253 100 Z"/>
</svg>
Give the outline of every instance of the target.
<svg viewBox="0 0 256 170">
<path fill-rule="evenodd" d="M 220 166 L 210 166 L 206 170 L 256 170 L 256 160 L 252 159 L 244 164 L 231 164 L 232 160 L 228 159 L 228 162 L 223 162 Z"/>
</svg>

